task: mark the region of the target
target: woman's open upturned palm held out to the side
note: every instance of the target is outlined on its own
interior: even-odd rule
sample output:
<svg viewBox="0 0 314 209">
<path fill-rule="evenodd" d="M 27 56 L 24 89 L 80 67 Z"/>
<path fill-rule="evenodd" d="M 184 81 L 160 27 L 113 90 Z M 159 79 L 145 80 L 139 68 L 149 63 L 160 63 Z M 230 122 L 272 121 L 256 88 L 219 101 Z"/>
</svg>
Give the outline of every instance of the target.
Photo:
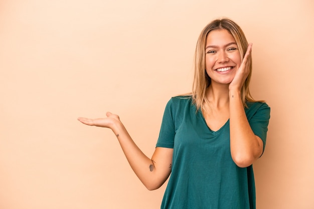
<svg viewBox="0 0 314 209">
<path fill-rule="evenodd" d="M 110 128 L 110 129 L 113 128 L 114 124 L 121 123 L 118 115 L 112 114 L 111 112 L 107 112 L 106 116 L 107 116 L 106 118 L 96 118 L 96 119 L 79 117 L 78 120 L 86 125 L 98 126 L 98 127 L 104 127 L 104 128 Z"/>
</svg>

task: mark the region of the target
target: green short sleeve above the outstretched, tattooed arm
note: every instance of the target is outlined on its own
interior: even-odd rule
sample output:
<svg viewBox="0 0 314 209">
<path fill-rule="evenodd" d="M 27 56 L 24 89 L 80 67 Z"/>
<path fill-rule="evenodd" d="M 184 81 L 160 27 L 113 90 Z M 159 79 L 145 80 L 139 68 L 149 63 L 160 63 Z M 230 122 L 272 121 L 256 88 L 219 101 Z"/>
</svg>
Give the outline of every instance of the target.
<svg viewBox="0 0 314 209">
<path fill-rule="evenodd" d="M 166 105 L 159 138 L 156 147 L 174 148 L 175 122 L 173 116 L 173 99 Z"/>
</svg>

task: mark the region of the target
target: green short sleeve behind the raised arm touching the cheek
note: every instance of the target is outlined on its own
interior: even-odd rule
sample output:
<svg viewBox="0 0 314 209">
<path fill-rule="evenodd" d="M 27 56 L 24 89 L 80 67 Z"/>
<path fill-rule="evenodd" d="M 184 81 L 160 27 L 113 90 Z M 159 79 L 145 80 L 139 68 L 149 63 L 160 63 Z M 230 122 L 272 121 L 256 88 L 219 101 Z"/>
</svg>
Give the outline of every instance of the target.
<svg viewBox="0 0 314 209">
<path fill-rule="evenodd" d="M 257 102 L 250 109 L 247 114 L 248 121 L 254 134 L 262 139 L 264 152 L 270 119 L 270 107 L 266 103 Z"/>
</svg>

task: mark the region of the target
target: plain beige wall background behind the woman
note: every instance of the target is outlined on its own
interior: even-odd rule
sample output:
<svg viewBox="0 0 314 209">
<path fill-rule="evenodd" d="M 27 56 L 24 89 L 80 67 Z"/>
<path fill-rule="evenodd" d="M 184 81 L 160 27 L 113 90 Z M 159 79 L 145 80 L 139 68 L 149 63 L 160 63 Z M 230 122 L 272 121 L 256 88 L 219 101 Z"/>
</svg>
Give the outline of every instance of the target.
<svg viewBox="0 0 314 209">
<path fill-rule="evenodd" d="M 255 164 L 259 209 L 314 208 L 314 3 L 0 1 L 0 208 L 160 208 L 110 130 L 151 155 L 171 96 L 191 90 L 196 40 L 217 17 L 253 43 L 252 94 L 271 107 Z"/>
</svg>

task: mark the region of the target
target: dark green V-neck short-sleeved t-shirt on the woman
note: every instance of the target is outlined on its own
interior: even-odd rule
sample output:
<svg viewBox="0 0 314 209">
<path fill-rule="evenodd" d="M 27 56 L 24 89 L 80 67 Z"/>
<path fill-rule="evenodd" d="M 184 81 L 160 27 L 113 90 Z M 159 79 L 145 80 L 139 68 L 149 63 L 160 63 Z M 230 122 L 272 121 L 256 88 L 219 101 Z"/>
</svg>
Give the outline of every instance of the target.
<svg viewBox="0 0 314 209">
<path fill-rule="evenodd" d="M 249 124 L 265 148 L 270 108 L 261 102 L 247 105 Z M 162 209 L 255 209 L 253 167 L 240 168 L 233 162 L 229 120 L 212 131 L 191 97 L 173 97 L 156 147 L 174 149 Z"/>
</svg>

